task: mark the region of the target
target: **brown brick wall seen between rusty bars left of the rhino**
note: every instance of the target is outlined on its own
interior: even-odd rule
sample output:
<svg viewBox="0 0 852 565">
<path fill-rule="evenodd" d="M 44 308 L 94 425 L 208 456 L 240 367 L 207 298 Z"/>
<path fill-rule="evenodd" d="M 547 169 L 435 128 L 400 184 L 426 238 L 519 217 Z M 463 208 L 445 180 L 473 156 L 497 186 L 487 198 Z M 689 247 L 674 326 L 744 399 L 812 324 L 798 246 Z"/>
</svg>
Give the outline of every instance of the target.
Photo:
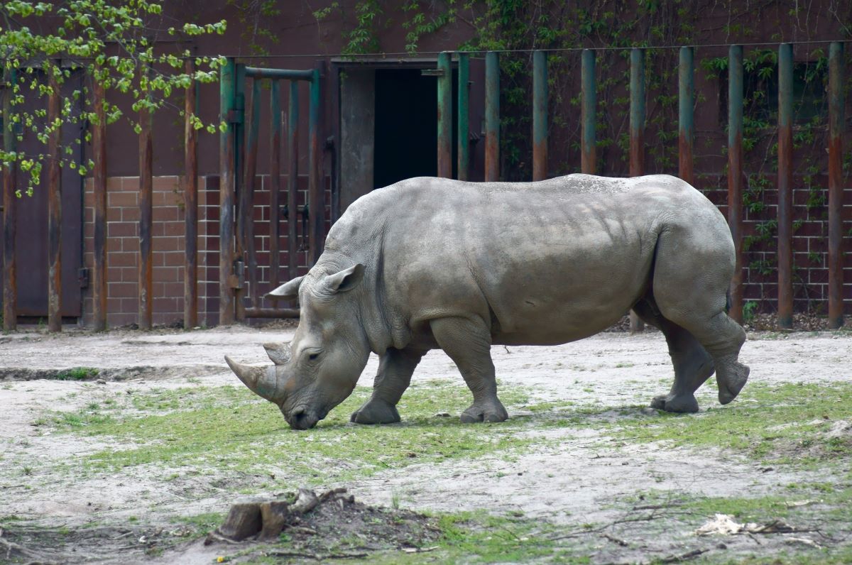
<svg viewBox="0 0 852 565">
<path fill-rule="evenodd" d="M 285 187 L 286 176 L 281 186 Z M 307 176 L 299 177 L 298 204 L 307 199 Z M 326 179 L 328 185 L 328 179 Z M 257 252 L 258 297 L 270 290 L 269 176 L 257 176 L 255 188 L 255 248 Z M 107 325 L 128 326 L 139 320 L 139 178 L 115 176 L 107 179 Z M 83 196 L 83 262 L 89 272 L 94 259 L 93 184 L 86 182 Z M 282 194 L 282 205 L 285 204 Z M 326 188 L 325 201 L 331 202 Z M 326 223 L 329 207 L 326 206 Z M 199 324 L 213 326 L 219 317 L 219 179 L 199 178 Z M 302 226 L 298 227 L 302 233 Z M 180 177 L 153 179 L 153 323 L 178 324 L 183 320 L 185 224 Z M 287 251 L 287 222 L 282 218 L 279 244 L 279 281 L 287 280 L 290 257 Z M 301 238 L 300 238 L 301 241 Z M 303 242 L 307 246 L 307 240 Z M 300 274 L 307 272 L 307 251 L 297 253 Z M 83 324 L 92 321 L 92 285 L 83 289 Z M 252 296 L 252 289 L 247 295 Z M 258 300 L 259 306 L 272 303 Z"/>
</svg>

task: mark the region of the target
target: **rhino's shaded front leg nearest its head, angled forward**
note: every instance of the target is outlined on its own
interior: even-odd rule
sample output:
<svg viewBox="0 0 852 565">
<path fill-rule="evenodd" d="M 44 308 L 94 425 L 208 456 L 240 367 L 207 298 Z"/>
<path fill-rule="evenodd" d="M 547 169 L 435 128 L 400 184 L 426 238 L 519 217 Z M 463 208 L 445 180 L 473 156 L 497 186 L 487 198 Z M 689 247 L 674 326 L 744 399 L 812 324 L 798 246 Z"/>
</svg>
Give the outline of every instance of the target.
<svg viewBox="0 0 852 565">
<path fill-rule="evenodd" d="M 388 349 L 379 359 L 373 394 L 353 412 L 356 424 L 392 424 L 400 421 L 396 404 L 412 382 L 412 373 L 426 352 L 419 349 Z"/>
</svg>

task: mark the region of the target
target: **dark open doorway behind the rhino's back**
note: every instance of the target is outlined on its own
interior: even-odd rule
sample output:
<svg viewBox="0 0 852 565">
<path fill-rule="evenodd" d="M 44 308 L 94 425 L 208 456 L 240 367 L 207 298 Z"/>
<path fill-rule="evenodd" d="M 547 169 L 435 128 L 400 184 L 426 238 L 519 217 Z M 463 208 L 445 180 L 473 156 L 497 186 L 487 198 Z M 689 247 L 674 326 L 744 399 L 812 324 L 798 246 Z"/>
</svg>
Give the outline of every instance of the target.
<svg viewBox="0 0 852 565">
<path fill-rule="evenodd" d="M 453 72 L 453 102 L 456 98 Z M 438 172 L 438 88 L 420 69 L 376 70 L 373 186 Z M 453 103 L 453 176 L 456 170 L 456 108 Z"/>
</svg>

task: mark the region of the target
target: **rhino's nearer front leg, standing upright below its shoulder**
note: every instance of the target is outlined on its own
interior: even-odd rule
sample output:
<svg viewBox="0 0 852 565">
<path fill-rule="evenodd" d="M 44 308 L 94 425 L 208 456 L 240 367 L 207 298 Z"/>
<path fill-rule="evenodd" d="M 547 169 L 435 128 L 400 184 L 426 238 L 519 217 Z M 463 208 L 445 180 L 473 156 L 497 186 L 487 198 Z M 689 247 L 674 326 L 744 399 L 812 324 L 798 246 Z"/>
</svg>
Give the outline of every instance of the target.
<svg viewBox="0 0 852 565">
<path fill-rule="evenodd" d="M 491 332 L 482 320 L 440 318 L 432 320 L 432 334 L 458 366 L 474 403 L 462 412 L 462 422 L 503 422 L 509 414 L 497 397 L 497 380 L 491 360 Z"/>
</svg>

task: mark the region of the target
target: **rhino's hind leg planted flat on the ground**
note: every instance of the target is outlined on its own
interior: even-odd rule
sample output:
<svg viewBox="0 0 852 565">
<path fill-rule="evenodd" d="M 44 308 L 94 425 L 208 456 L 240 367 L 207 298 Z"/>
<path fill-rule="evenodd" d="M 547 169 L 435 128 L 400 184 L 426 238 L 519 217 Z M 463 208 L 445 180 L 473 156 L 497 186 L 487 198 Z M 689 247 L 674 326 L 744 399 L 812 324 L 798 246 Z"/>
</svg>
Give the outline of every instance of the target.
<svg viewBox="0 0 852 565">
<path fill-rule="evenodd" d="M 695 391 L 715 371 L 713 358 L 691 333 L 659 313 L 653 297 L 637 303 L 634 311 L 646 324 L 663 332 L 675 369 L 671 391 L 668 395 L 654 396 L 651 407 L 666 412 L 698 412 Z"/>
</svg>

